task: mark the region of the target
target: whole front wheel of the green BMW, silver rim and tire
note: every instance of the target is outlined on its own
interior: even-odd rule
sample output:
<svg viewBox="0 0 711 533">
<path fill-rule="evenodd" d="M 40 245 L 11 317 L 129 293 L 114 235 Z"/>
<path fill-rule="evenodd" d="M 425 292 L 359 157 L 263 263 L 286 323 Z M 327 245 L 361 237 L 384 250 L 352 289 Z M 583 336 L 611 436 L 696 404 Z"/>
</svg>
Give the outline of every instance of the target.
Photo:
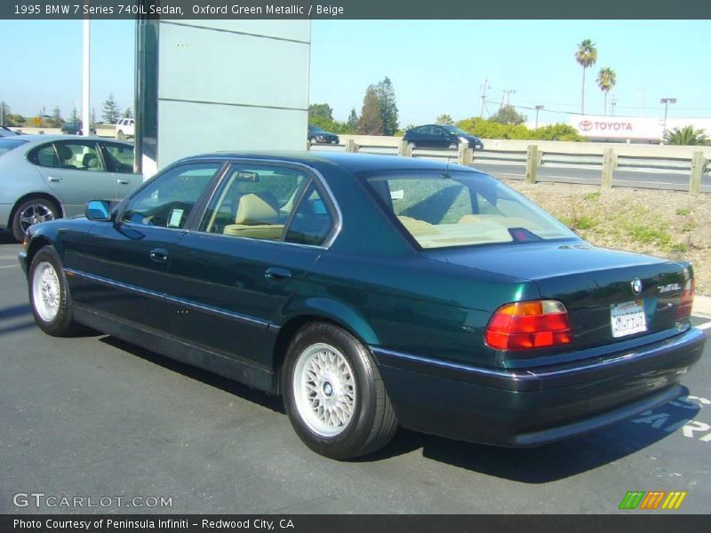
<svg viewBox="0 0 711 533">
<path fill-rule="evenodd" d="M 66 337 L 81 330 L 81 326 L 74 322 L 67 278 L 52 246 L 44 246 L 32 259 L 29 303 L 37 326 L 45 333 Z"/>
</svg>

